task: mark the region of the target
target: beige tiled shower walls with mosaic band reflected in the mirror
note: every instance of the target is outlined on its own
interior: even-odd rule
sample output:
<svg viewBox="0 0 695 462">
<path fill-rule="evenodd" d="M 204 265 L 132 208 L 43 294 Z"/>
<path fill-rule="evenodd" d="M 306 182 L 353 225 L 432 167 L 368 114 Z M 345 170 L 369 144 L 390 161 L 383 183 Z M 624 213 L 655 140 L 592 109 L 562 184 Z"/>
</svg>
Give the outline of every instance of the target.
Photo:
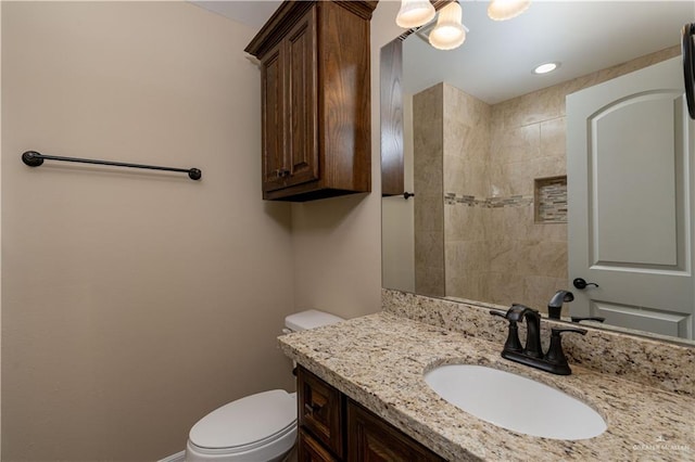
<svg viewBox="0 0 695 462">
<path fill-rule="evenodd" d="M 492 106 L 447 84 L 415 95 L 416 292 L 545 310 L 569 288 L 567 223 L 535 222 L 534 180 L 566 175 L 565 97 L 679 53 L 672 47 Z"/>
</svg>

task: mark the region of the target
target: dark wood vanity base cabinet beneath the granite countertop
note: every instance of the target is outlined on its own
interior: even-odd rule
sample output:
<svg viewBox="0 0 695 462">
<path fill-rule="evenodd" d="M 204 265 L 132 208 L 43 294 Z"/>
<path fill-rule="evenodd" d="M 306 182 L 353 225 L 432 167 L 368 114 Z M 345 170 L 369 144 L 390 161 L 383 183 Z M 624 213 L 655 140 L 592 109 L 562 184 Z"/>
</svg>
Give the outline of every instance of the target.
<svg viewBox="0 0 695 462">
<path fill-rule="evenodd" d="M 304 368 L 296 377 L 299 462 L 444 460 Z"/>
</svg>

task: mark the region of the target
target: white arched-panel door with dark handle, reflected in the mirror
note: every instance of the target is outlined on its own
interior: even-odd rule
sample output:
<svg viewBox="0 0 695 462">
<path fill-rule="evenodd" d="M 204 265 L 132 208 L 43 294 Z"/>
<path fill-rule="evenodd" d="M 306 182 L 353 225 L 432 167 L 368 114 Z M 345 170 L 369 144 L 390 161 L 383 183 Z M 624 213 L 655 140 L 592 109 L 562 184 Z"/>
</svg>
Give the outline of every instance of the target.
<svg viewBox="0 0 695 462">
<path fill-rule="evenodd" d="M 681 66 L 567 97 L 568 268 L 573 316 L 693 338 L 695 124 Z"/>
</svg>

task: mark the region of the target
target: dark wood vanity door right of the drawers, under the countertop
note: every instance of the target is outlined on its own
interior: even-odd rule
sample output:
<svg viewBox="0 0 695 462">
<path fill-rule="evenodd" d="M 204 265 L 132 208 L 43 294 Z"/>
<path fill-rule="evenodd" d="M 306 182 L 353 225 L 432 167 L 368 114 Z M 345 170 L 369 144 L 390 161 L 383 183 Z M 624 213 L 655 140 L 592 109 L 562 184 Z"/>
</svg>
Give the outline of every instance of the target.
<svg viewBox="0 0 695 462">
<path fill-rule="evenodd" d="M 348 402 L 348 461 L 443 461 L 362 406 Z"/>
</svg>

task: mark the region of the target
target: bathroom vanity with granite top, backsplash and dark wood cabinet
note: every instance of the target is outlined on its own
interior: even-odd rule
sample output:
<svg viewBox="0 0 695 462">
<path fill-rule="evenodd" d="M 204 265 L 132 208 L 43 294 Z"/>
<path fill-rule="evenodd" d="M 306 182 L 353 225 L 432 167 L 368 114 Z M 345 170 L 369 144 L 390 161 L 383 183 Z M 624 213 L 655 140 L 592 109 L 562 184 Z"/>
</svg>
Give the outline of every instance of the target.
<svg viewBox="0 0 695 462">
<path fill-rule="evenodd" d="M 285 354 L 300 364 L 301 460 L 693 458 L 694 348 L 587 328 L 585 337 L 567 343 L 572 374 L 553 375 L 501 358 L 506 324 L 485 308 L 394 291 L 383 298 L 382 312 L 280 337 Z M 544 338 L 552 324 L 543 321 Z M 563 440 L 488 423 L 426 384 L 427 371 L 450 363 L 549 385 L 590 406 L 607 429 Z M 382 449 L 401 448 L 419 452 L 383 455 Z"/>
</svg>

